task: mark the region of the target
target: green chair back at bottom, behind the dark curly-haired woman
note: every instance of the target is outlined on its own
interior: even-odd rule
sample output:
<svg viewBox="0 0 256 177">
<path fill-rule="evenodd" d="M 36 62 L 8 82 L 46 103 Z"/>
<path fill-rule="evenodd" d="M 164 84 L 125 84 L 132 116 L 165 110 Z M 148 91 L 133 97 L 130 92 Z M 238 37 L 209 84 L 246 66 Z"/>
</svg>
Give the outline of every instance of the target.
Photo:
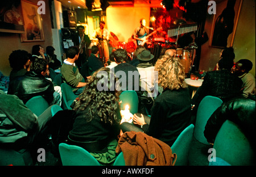
<svg viewBox="0 0 256 177">
<path fill-rule="evenodd" d="M 100 166 L 96 158 L 80 146 L 61 143 L 59 151 L 63 166 Z"/>
</svg>

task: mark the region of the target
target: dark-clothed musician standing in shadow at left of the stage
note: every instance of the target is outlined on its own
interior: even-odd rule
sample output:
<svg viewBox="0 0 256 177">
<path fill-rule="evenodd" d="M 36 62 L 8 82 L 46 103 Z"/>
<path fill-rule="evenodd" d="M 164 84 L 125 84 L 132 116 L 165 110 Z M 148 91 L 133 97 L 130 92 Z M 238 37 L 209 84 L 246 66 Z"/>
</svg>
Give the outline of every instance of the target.
<svg viewBox="0 0 256 177">
<path fill-rule="evenodd" d="M 82 40 L 83 35 L 84 35 L 84 39 Z M 90 43 L 91 43 L 89 36 L 85 35 L 84 33 L 84 26 L 77 26 L 77 33 L 75 33 L 72 40 L 76 47 L 81 47 L 81 52 L 79 53 L 79 59 L 75 62 L 77 67 L 80 70 L 82 64 L 84 64 L 87 61 L 87 57 L 89 56 L 88 47 L 90 46 Z M 81 43 L 81 40 L 82 40 L 82 43 Z"/>
</svg>

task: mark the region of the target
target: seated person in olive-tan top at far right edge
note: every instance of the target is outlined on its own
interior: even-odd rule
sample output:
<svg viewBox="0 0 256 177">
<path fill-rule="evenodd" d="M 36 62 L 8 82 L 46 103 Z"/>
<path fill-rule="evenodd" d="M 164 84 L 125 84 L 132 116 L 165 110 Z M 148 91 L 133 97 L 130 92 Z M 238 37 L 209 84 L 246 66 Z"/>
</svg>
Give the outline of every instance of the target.
<svg viewBox="0 0 256 177">
<path fill-rule="evenodd" d="M 236 62 L 235 68 L 233 68 L 233 73 L 242 79 L 243 85 L 243 96 L 247 98 L 248 96 L 255 95 L 255 77 L 249 71 L 253 68 L 253 63 L 247 59 L 241 59 Z"/>
</svg>

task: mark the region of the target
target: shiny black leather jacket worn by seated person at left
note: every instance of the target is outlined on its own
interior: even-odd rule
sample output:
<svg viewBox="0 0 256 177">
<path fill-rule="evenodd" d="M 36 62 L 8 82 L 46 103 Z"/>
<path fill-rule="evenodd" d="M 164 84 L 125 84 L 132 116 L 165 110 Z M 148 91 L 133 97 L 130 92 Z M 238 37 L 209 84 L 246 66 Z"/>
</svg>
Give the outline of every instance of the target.
<svg viewBox="0 0 256 177">
<path fill-rule="evenodd" d="M 8 94 L 14 94 L 26 104 L 34 96 L 41 95 L 49 104 L 53 101 L 53 83 L 42 74 L 28 71 L 25 75 L 16 77 L 10 85 Z"/>
</svg>

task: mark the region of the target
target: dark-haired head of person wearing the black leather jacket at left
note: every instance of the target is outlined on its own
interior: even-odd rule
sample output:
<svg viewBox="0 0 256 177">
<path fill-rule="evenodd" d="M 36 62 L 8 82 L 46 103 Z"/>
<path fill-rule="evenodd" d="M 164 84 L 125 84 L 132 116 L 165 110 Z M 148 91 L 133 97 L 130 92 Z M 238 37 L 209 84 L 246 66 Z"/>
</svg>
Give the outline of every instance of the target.
<svg viewBox="0 0 256 177">
<path fill-rule="evenodd" d="M 42 74 L 43 76 L 45 76 L 46 74 L 49 74 L 48 69 L 48 62 L 44 58 L 36 57 L 31 64 L 31 71 L 33 71 L 36 74 Z"/>
</svg>

